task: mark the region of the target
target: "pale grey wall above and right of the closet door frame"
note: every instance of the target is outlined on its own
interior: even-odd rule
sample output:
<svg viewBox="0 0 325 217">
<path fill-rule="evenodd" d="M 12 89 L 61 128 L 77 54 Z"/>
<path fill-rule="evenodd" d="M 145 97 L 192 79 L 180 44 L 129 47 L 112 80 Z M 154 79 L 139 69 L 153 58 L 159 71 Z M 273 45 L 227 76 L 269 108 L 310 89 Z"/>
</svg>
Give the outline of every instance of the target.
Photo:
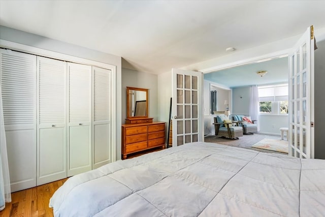
<svg viewBox="0 0 325 217">
<path fill-rule="evenodd" d="M 0 39 L 116 66 L 116 99 L 121 99 L 121 57 L 0 26 Z M 116 102 L 116 159 L 121 159 L 121 102 Z"/>
</svg>

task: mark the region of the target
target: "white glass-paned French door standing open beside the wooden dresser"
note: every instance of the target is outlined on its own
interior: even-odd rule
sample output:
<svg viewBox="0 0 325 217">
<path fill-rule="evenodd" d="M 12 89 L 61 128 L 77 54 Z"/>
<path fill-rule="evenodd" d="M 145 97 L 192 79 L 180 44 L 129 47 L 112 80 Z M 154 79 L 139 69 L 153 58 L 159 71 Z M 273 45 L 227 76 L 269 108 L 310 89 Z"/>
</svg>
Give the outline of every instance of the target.
<svg viewBox="0 0 325 217">
<path fill-rule="evenodd" d="M 202 73 L 172 69 L 173 147 L 203 141 Z"/>
</svg>

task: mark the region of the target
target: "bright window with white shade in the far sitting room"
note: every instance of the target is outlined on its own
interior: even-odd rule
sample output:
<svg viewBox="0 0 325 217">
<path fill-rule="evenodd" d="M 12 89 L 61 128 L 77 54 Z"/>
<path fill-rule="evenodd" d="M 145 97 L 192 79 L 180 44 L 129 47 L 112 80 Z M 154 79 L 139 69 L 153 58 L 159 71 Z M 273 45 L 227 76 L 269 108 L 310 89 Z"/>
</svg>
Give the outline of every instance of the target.
<svg viewBox="0 0 325 217">
<path fill-rule="evenodd" d="M 288 114 L 288 84 L 258 87 L 260 114 Z"/>
</svg>

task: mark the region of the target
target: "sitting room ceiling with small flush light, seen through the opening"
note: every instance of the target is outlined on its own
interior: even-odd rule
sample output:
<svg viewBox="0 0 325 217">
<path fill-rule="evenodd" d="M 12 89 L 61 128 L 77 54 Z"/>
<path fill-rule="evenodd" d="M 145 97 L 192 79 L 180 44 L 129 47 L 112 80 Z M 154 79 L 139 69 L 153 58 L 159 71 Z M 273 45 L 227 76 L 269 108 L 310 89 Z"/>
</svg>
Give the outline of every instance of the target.
<svg viewBox="0 0 325 217">
<path fill-rule="evenodd" d="M 257 75 L 258 71 L 265 70 L 268 73 L 263 77 Z M 204 74 L 204 79 L 226 87 L 285 83 L 288 82 L 288 57 Z"/>
</svg>

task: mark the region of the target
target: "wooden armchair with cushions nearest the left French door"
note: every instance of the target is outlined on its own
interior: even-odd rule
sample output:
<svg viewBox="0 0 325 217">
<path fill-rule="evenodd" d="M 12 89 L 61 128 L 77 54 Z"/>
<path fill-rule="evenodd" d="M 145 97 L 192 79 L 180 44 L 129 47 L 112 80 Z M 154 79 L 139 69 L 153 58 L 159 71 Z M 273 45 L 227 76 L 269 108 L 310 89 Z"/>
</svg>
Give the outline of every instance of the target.
<svg viewBox="0 0 325 217">
<path fill-rule="evenodd" d="M 224 114 L 214 117 L 213 125 L 216 136 L 224 136 L 232 139 L 238 139 L 238 137 L 243 136 L 242 127 L 234 127 L 232 121 Z"/>
</svg>

